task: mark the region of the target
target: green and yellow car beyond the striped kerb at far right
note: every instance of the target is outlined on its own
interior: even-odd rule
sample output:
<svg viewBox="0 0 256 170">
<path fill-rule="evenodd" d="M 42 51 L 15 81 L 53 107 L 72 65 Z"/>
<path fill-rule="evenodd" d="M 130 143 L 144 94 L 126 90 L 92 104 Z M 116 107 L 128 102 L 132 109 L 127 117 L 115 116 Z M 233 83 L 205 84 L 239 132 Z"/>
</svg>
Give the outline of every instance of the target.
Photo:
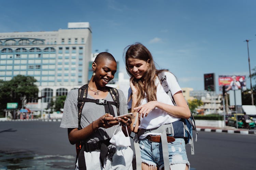
<svg viewBox="0 0 256 170">
<path fill-rule="evenodd" d="M 243 121 L 242 121 L 243 115 L 244 115 L 244 114 L 242 114 L 242 113 L 238 113 L 238 114 L 237 114 L 238 128 L 246 128 L 246 127 L 244 127 L 244 123 L 243 123 Z M 227 125 L 228 125 L 228 126 L 237 127 L 237 119 L 236 119 L 236 114 L 231 114 L 231 115 L 228 117 Z M 251 120 L 252 120 L 252 117 L 251 117 Z M 255 128 L 255 122 L 254 122 L 254 121 L 251 121 L 251 122 L 249 123 L 249 125 L 250 125 L 250 128 L 251 128 L 251 129 Z"/>
</svg>

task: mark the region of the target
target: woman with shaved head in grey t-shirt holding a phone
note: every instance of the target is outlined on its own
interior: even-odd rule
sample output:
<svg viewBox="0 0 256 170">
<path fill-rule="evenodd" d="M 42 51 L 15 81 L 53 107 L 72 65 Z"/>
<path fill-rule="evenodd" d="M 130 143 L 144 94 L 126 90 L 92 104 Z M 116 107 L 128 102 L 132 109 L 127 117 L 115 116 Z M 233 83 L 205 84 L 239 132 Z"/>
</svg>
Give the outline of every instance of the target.
<svg viewBox="0 0 256 170">
<path fill-rule="evenodd" d="M 116 73 L 115 58 L 108 52 L 99 53 L 92 69 L 89 83 L 68 93 L 60 125 L 68 128 L 69 141 L 76 144 L 75 168 L 132 169 L 132 150 L 128 147 L 120 154 L 110 143 L 119 122 L 126 136 L 131 123 L 128 117 L 114 118 L 128 113 L 127 102 L 121 90 L 106 86 Z"/>
</svg>

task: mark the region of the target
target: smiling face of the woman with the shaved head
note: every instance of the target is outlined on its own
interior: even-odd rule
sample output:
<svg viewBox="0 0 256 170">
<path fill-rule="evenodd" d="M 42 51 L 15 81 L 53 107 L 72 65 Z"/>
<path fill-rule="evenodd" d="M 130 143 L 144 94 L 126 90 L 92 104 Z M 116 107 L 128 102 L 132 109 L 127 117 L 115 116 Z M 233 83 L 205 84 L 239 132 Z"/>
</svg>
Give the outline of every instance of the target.
<svg viewBox="0 0 256 170">
<path fill-rule="evenodd" d="M 106 59 L 105 61 L 93 63 L 92 67 L 95 71 L 94 80 L 100 87 L 108 84 L 116 73 L 116 62 Z"/>
</svg>

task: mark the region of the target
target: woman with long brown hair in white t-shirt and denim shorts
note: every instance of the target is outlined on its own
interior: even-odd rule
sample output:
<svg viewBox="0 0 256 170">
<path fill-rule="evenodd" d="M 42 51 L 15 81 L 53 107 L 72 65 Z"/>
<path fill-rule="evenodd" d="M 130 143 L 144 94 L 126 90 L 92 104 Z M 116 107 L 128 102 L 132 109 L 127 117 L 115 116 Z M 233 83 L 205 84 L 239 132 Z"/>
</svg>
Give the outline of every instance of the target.
<svg viewBox="0 0 256 170">
<path fill-rule="evenodd" d="M 138 131 L 142 169 L 161 169 L 164 167 L 163 157 L 168 155 L 163 155 L 160 140 L 161 133 L 155 130 L 162 125 L 172 127 L 173 124 L 175 124 L 173 129 L 177 129 L 176 132 L 183 130 L 184 126 L 181 118 L 188 119 L 190 110 L 176 77 L 168 70 L 156 69 L 153 57 L 145 46 L 136 43 L 126 49 L 126 71 L 130 75 L 128 109 L 131 112 L 138 112 L 138 115 L 136 115 L 138 121 L 132 122 L 136 126 L 135 128 L 131 126 L 131 128 L 134 132 Z M 160 83 L 158 78 L 160 72 L 163 72 L 166 77 L 176 105 Z M 135 120 L 133 119 L 133 121 Z M 171 133 L 167 134 L 171 170 L 189 169 L 190 164 L 187 159 L 183 137 L 176 137 Z M 169 169 L 164 168 L 165 170 Z"/>
</svg>

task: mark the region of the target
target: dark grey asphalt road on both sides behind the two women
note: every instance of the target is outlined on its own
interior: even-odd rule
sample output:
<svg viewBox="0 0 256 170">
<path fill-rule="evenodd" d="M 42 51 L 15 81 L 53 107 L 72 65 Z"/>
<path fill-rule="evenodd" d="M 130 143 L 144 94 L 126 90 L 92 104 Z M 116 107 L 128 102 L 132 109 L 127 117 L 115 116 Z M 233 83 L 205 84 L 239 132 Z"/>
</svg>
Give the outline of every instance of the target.
<svg viewBox="0 0 256 170">
<path fill-rule="evenodd" d="M 60 122 L 0 122 L 0 169 L 73 169 L 75 147 Z M 194 135 L 195 136 L 195 135 Z M 199 132 L 191 169 L 255 169 L 256 135 Z"/>
</svg>

